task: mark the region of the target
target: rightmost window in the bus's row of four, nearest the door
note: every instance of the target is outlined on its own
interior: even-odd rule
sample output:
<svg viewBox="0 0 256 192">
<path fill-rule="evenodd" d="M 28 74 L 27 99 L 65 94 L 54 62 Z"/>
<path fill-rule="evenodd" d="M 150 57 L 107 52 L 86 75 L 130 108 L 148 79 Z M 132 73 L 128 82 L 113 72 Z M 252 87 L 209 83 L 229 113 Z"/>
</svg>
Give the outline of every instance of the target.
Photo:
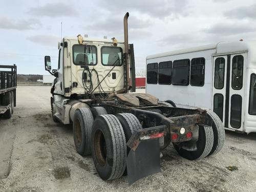
<svg viewBox="0 0 256 192">
<path fill-rule="evenodd" d="M 191 86 L 204 85 L 205 58 L 193 58 L 191 60 L 190 84 Z"/>
</svg>

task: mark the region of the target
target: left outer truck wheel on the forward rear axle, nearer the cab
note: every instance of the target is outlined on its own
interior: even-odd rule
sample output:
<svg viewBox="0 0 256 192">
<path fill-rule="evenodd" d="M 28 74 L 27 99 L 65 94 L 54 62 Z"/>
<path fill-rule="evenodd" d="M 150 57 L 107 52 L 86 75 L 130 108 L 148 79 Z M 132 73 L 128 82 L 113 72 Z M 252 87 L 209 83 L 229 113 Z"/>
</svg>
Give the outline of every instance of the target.
<svg viewBox="0 0 256 192">
<path fill-rule="evenodd" d="M 89 108 L 78 108 L 73 120 L 73 137 L 76 151 L 81 156 L 91 154 L 93 114 Z"/>
</svg>

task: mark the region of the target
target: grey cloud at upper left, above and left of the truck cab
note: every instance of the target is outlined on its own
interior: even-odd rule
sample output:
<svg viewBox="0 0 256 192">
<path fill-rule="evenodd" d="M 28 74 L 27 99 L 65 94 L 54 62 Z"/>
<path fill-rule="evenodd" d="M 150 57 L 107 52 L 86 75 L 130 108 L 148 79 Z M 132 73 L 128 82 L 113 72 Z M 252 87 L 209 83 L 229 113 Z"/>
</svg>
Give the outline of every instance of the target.
<svg viewBox="0 0 256 192">
<path fill-rule="evenodd" d="M 32 7 L 28 11 L 29 14 L 35 16 L 49 16 L 49 17 L 59 17 L 59 16 L 77 16 L 77 10 L 68 4 L 62 2 L 46 4 L 44 6 Z"/>
</svg>

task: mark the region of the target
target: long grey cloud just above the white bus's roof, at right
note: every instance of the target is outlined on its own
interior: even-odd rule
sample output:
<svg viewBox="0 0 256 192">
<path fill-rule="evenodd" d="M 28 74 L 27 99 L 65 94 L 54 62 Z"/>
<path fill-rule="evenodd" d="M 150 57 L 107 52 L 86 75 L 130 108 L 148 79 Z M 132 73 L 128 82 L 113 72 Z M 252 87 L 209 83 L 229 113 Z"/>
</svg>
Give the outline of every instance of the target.
<svg viewBox="0 0 256 192">
<path fill-rule="evenodd" d="M 215 35 L 234 35 L 255 31 L 252 27 L 245 23 L 219 23 L 204 30 L 206 33 Z"/>
</svg>

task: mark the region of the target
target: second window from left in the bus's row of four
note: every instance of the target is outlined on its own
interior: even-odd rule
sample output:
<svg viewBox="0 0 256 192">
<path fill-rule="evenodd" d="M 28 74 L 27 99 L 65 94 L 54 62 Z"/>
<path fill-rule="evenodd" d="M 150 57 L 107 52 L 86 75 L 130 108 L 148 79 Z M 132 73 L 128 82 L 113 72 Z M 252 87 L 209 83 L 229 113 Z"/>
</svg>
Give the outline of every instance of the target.
<svg viewBox="0 0 256 192">
<path fill-rule="evenodd" d="M 172 79 L 172 61 L 159 62 L 158 83 L 170 84 Z"/>
</svg>

